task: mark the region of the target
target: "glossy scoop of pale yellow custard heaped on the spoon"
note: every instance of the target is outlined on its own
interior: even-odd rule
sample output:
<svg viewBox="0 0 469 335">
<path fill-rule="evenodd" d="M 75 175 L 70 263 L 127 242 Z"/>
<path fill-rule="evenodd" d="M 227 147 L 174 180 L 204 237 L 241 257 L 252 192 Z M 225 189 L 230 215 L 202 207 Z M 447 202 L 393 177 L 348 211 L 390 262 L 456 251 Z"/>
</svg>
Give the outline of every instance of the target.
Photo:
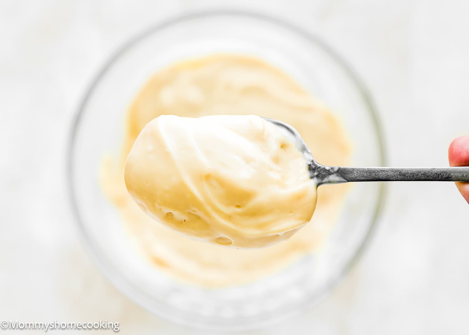
<svg viewBox="0 0 469 335">
<path fill-rule="evenodd" d="M 137 137 L 124 177 L 129 194 L 156 221 L 237 248 L 287 239 L 316 206 L 301 152 L 254 115 L 161 115 Z"/>
</svg>

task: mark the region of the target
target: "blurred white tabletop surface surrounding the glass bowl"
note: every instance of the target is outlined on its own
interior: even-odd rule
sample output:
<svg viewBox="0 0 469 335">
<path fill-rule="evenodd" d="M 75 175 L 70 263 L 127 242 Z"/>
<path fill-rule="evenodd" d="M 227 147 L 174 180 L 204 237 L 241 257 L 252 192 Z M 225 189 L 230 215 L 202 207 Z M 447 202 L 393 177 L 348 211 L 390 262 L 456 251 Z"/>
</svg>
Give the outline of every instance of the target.
<svg viewBox="0 0 469 335">
<path fill-rule="evenodd" d="M 123 334 L 205 334 L 144 311 L 98 272 L 68 207 L 64 154 L 78 101 L 117 46 L 168 15 L 219 3 L 0 1 L 1 320 L 101 319 L 121 322 Z M 469 134 L 468 1 L 231 7 L 285 18 L 343 55 L 381 112 L 390 165 L 445 166 L 451 139 Z M 317 308 L 249 334 L 467 331 L 469 206 L 451 183 L 389 191 L 371 247 L 340 288 Z"/>
</svg>

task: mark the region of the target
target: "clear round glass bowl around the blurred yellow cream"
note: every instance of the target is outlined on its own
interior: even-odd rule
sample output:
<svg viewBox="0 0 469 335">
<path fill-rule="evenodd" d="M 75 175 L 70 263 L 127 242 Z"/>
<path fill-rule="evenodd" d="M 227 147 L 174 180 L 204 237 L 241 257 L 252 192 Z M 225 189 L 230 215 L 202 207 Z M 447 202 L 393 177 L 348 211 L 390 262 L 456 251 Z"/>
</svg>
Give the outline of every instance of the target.
<svg viewBox="0 0 469 335">
<path fill-rule="evenodd" d="M 79 230 L 98 266 L 136 303 L 167 319 L 217 330 L 260 327 L 326 297 L 369 241 L 384 194 L 380 183 L 356 183 L 321 252 L 250 285 L 199 289 L 149 266 L 100 189 L 102 158 L 118 152 L 128 104 L 157 69 L 230 52 L 263 58 L 290 73 L 343 121 L 355 147 L 354 164 L 384 165 L 382 134 L 363 85 L 323 42 L 288 23 L 234 11 L 184 15 L 152 27 L 115 53 L 86 92 L 71 135 L 69 189 Z"/>
</svg>

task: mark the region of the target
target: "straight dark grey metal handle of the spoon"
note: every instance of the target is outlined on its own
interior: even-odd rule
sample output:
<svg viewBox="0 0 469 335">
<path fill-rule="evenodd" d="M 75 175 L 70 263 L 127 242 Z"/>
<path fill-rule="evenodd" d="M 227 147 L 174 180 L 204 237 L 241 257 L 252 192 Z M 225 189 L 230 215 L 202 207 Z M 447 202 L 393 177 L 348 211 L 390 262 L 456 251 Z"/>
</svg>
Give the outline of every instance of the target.
<svg viewBox="0 0 469 335">
<path fill-rule="evenodd" d="M 328 171 L 338 178 L 330 175 L 324 183 L 340 183 L 341 181 L 469 182 L 469 167 L 330 167 Z"/>
</svg>

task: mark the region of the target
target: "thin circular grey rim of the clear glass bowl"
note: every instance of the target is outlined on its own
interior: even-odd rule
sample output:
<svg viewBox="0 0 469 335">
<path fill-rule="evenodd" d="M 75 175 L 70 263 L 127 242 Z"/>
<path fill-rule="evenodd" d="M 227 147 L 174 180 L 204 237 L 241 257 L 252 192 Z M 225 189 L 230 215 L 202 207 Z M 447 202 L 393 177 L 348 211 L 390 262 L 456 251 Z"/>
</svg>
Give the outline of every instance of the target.
<svg viewBox="0 0 469 335">
<path fill-rule="evenodd" d="M 170 26 L 173 26 L 175 24 L 182 23 L 185 21 L 194 20 L 194 19 L 203 19 L 203 18 L 210 18 L 210 17 L 217 17 L 217 16 L 219 17 L 221 16 L 245 17 L 245 18 L 255 19 L 258 21 L 264 21 L 266 23 L 278 25 L 286 30 L 293 32 L 297 36 L 304 38 L 309 43 L 314 44 L 318 46 L 319 48 L 321 48 L 323 51 L 325 51 L 325 53 L 327 53 L 328 56 L 330 56 L 333 59 L 333 61 L 335 61 L 340 66 L 340 68 L 349 76 L 349 78 L 352 80 L 353 84 L 356 86 L 357 90 L 359 91 L 361 95 L 361 99 L 363 99 L 363 102 L 365 106 L 367 107 L 366 109 L 368 110 L 368 113 L 370 114 L 371 121 L 376 131 L 376 135 L 378 139 L 378 149 L 379 149 L 378 158 L 381 163 L 381 166 L 386 166 L 386 162 L 387 162 L 384 133 L 383 133 L 383 128 L 381 126 L 381 122 L 378 117 L 377 108 L 375 107 L 375 104 L 373 102 L 373 99 L 371 98 L 371 94 L 369 93 L 369 90 L 363 84 L 363 81 L 361 80 L 361 78 L 356 74 L 356 71 L 353 70 L 351 66 L 346 61 L 344 61 L 344 59 L 341 56 L 339 56 L 339 54 L 336 53 L 330 46 L 328 46 L 321 38 L 318 38 L 316 35 L 310 33 L 306 29 L 296 26 L 295 24 L 289 23 L 282 18 L 278 18 L 276 16 L 271 16 L 271 15 L 265 15 L 265 14 L 258 13 L 258 12 L 238 10 L 238 9 L 211 9 L 211 10 L 191 11 L 191 12 L 186 12 L 180 15 L 172 16 L 170 18 L 167 18 L 166 20 L 160 21 L 159 23 L 153 24 L 149 28 L 141 31 L 140 33 L 135 34 L 133 37 L 127 38 L 127 40 L 124 41 L 120 47 L 114 50 L 114 52 L 111 53 L 110 57 L 107 58 L 107 60 L 98 70 L 98 72 L 94 75 L 91 82 L 87 85 L 87 88 L 84 91 L 82 98 L 80 99 L 80 103 L 78 107 L 76 108 L 75 115 L 71 121 L 69 137 L 68 137 L 68 145 L 67 145 L 68 153 L 66 156 L 66 180 L 67 180 L 66 183 L 68 186 L 68 202 L 69 202 L 69 205 L 71 207 L 71 212 L 76 222 L 76 229 L 78 230 L 78 235 L 80 236 L 80 239 L 82 240 L 81 244 L 83 245 L 83 248 L 90 255 L 91 259 L 94 260 L 94 263 L 98 266 L 100 271 L 102 271 L 102 273 L 105 274 L 106 278 L 119 291 L 124 293 L 124 295 L 128 297 L 131 301 L 133 301 L 137 305 L 144 307 L 147 311 L 150 311 L 151 313 L 158 315 L 159 317 L 162 317 L 166 320 L 170 320 L 174 323 L 177 323 L 183 326 L 194 327 L 194 328 L 199 328 L 199 329 L 207 329 L 207 330 L 220 330 L 220 327 L 223 327 L 223 325 L 222 324 L 207 325 L 201 321 L 194 322 L 194 321 L 187 320 L 187 319 L 181 319 L 175 316 L 174 314 L 172 314 L 171 312 L 166 312 L 164 308 L 159 308 L 159 311 L 155 312 L 154 309 L 149 308 L 147 304 L 144 303 L 145 300 L 148 300 L 148 297 L 146 297 L 144 294 L 140 294 L 138 291 L 135 291 L 135 290 L 133 294 L 130 294 L 129 290 L 127 289 L 129 287 L 127 280 L 121 277 L 121 275 L 117 271 L 115 271 L 114 269 L 111 269 L 111 267 L 108 266 L 106 261 L 104 261 L 105 259 L 104 255 L 102 255 L 101 252 L 98 250 L 98 248 L 96 248 L 94 244 L 91 242 L 91 238 L 88 236 L 86 228 L 84 227 L 84 224 L 83 224 L 82 217 L 80 216 L 80 211 L 78 209 L 76 196 L 75 196 L 76 189 L 75 189 L 74 180 L 73 180 L 73 171 L 74 171 L 73 154 L 74 154 L 74 147 L 76 145 L 76 141 L 75 141 L 76 133 L 77 133 L 77 129 L 79 128 L 81 124 L 81 119 L 84 113 L 84 109 L 86 108 L 88 101 L 93 91 L 95 90 L 96 86 L 100 82 L 101 78 L 106 75 L 108 70 L 111 69 L 114 63 L 119 60 L 121 55 L 129 51 L 133 46 L 135 46 L 136 44 L 138 44 L 139 42 L 141 42 L 142 40 L 144 40 L 151 34 L 157 33 L 160 30 L 164 30 L 167 27 L 170 27 Z M 371 225 L 370 225 L 370 228 L 367 230 L 366 234 L 364 235 L 363 241 L 361 242 L 359 247 L 356 249 L 355 254 L 353 255 L 353 257 L 350 258 L 348 263 L 346 263 L 346 265 L 342 269 L 340 269 L 337 275 L 332 277 L 331 280 L 325 284 L 324 288 L 318 293 L 316 297 L 310 299 L 308 302 L 306 302 L 303 305 L 299 304 L 295 306 L 295 308 L 292 308 L 287 313 L 282 315 L 281 318 L 277 318 L 275 320 L 272 320 L 271 318 L 271 319 L 266 319 L 266 320 L 259 320 L 255 323 L 237 325 L 236 327 L 232 327 L 230 330 L 239 331 L 239 330 L 266 327 L 268 325 L 272 325 L 273 323 L 278 323 L 296 314 L 299 314 L 308 309 L 311 309 L 313 306 L 318 305 L 323 300 L 325 300 L 325 298 L 328 297 L 332 293 L 332 291 L 339 286 L 340 282 L 344 280 L 346 275 L 356 265 L 356 263 L 359 261 L 359 259 L 363 255 L 363 252 L 365 251 L 365 249 L 371 243 L 371 237 L 374 235 L 376 231 L 376 228 L 378 226 L 378 220 L 383 212 L 384 203 L 386 199 L 386 193 L 387 193 L 387 187 L 385 183 L 380 183 L 379 189 L 378 189 L 378 201 L 374 208 L 374 212 L 371 216 Z M 151 302 L 154 304 L 153 300 L 151 300 Z M 226 331 L 226 329 L 224 330 Z"/>
</svg>

